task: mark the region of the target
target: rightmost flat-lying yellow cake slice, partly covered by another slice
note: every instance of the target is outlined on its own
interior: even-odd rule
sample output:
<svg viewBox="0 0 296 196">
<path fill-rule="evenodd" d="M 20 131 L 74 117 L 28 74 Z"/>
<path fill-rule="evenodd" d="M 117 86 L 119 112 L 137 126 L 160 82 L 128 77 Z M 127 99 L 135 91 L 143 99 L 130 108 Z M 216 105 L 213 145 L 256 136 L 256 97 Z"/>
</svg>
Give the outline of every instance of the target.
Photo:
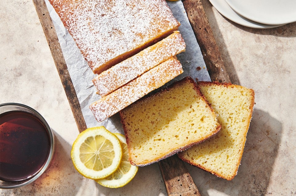
<svg viewBox="0 0 296 196">
<path fill-rule="evenodd" d="M 199 82 L 201 92 L 218 114 L 221 130 L 178 156 L 220 178 L 232 180 L 241 162 L 254 105 L 254 91 L 234 84 Z"/>
</svg>

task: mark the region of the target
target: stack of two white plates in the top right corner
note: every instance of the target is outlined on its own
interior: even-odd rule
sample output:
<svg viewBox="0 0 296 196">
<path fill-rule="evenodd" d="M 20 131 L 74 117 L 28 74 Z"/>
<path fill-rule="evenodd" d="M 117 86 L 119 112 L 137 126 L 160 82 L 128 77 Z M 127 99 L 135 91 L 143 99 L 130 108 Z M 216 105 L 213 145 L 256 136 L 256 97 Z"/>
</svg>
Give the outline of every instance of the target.
<svg viewBox="0 0 296 196">
<path fill-rule="evenodd" d="M 224 17 L 252 28 L 273 28 L 296 21 L 296 0 L 209 0 Z"/>
</svg>

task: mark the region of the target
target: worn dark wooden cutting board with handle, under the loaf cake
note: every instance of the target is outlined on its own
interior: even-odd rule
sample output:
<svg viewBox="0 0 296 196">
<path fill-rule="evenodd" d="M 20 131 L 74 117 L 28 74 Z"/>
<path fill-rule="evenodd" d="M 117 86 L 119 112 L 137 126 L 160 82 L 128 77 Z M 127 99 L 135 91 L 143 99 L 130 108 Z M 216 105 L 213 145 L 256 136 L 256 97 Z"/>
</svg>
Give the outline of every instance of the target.
<svg viewBox="0 0 296 196">
<path fill-rule="evenodd" d="M 204 62 L 208 68 L 211 80 L 230 82 L 201 0 L 182 0 L 182 2 L 203 54 Z M 87 129 L 87 126 L 55 32 L 55 27 L 44 0 L 33 0 L 33 3 L 50 47 L 55 66 L 60 75 L 78 130 L 81 133 Z M 168 195 L 200 195 L 185 164 L 178 156 L 174 155 L 159 161 L 158 165 Z"/>
</svg>

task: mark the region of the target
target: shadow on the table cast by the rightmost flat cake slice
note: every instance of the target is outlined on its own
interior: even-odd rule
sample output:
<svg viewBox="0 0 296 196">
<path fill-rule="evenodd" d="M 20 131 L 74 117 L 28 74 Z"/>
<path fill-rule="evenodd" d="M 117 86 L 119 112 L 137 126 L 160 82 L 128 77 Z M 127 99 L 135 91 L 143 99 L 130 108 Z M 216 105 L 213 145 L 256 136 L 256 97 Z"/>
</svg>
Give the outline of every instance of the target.
<svg viewBox="0 0 296 196">
<path fill-rule="evenodd" d="M 255 109 L 237 175 L 232 181 L 218 178 L 187 164 L 201 195 L 265 195 L 282 137 L 282 124 Z"/>
</svg>

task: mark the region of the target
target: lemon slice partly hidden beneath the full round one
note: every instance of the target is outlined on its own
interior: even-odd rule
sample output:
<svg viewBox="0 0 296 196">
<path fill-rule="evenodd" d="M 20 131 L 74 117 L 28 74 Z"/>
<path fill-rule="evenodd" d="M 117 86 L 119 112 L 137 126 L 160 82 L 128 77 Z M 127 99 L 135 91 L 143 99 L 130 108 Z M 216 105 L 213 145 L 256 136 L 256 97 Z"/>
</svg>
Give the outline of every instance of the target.
<svg viewBox="0 0 296 196">
<path fill-rule="evenodd" d="M 120 133 L 114 133 L 121 141 L 122 159 L 119 168 L 110 176 L 104 179 L 96 180 L 102 186 L 109 188 L 119 188 L 129 183 L 137 174 L 138 166 L 131 165 L 128 161 L 128 149 L 126 145 L 125 136 Z"/>
</svg>

